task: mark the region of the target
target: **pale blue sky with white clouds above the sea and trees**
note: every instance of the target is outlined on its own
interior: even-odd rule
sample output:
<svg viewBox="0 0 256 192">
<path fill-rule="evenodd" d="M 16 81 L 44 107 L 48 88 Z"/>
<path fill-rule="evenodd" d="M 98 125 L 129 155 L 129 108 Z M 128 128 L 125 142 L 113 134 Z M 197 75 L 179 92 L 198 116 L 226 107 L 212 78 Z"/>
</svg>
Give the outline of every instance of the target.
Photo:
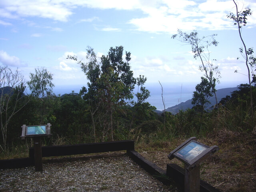
<svg viewBox="0 0 256 192">
<path fill-rule="evenodd" d="M 254 47 L 256 2 L 239 0 L 238 7 L 253 12 L 242 36 Z M 201 37 L 217 34 L 218 46 L 209 48 L 221 73 L 217 87 L 234 87 L 248 82 L 248 72 L 230 12 L 235 12 L 232 0 L 1 0 L 0 64 L 18 68 L 26 81 L 35 68 L 46 67 L 56 87 L 77 87 L 87 79 L 68 55 L 86 62 L 87 46 L 101 56 L 122 45 L 131 52 L 134 77 L 146 76 L 148 85 L 186 87 L 200 83 L 200 61 L 189 45 L 171 36 L 178 29 L 196 30 Z"/>
</svg>

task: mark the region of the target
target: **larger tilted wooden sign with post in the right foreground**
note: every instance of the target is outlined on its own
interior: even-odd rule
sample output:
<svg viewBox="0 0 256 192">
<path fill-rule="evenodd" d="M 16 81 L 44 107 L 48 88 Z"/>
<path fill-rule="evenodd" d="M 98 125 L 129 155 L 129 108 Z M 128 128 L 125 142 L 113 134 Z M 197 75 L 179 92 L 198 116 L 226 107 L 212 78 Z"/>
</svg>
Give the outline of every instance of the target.
<svg viewBox="0 0 256 192">
<path fill-rule="evenodd" d="M 197 142 L 196 137 L 191 137 L 170 152 L 170 160 L 177 158 L 185 163 L 185 192 L 200 191 L 200 164 L 218 150 L 219 147 L 216 145 L 209 147 Z"/>
</svg>

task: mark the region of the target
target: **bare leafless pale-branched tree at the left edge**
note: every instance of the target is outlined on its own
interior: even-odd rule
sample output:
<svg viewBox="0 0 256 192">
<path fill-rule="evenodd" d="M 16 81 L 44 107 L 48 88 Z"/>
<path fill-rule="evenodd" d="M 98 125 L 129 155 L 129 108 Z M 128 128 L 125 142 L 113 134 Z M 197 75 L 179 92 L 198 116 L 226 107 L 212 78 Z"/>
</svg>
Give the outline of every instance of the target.
<svg viewBox="0 0 256 192">
<path fill-rule="evenodd" d="M 25 88 L 24 76 L 18 68 L 13 72 L 8 66 L 0 66 L 0 124 L 3 139 L 0 148 L 3 151 L 6 151 L 10 120 L 29 102 L 29 98 L 24 95 Z"/>
</svg>

